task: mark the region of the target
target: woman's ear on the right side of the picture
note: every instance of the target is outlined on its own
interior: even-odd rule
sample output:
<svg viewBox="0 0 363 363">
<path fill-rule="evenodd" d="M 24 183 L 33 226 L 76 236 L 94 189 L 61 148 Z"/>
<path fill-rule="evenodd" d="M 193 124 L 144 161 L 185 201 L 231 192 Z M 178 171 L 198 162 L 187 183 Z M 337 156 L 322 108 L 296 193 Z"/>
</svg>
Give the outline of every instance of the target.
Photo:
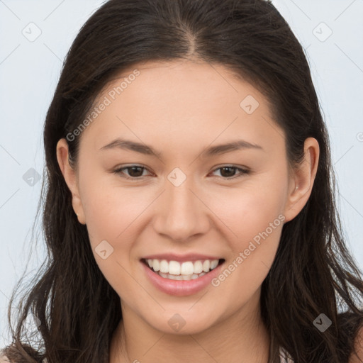
<svg viewBox="0 0 363 363">
<path fill-rule="evenodd" d="M 294 219 L 308 201 L 318 169 L 319 143 L 315 138 L 307 138 L 304 143 L 303 161 L 291 169 L 289 195 L 285 205 L 285 222 Z"/>
</svg>

